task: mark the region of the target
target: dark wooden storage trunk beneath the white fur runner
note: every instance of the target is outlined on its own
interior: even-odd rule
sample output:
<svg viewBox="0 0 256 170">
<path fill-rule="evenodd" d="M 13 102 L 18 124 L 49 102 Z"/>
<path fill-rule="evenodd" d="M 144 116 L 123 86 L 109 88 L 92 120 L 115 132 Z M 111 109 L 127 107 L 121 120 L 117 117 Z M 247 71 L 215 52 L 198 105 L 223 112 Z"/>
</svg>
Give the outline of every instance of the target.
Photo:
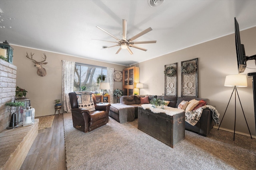
<svg viewBox="0 0 256 170">
<path fill-rule="evenodd" d="M 185 111 L 170 116 L 138 107 L 138 129 L 173 148 L 185 139 Z"/>
</svg>

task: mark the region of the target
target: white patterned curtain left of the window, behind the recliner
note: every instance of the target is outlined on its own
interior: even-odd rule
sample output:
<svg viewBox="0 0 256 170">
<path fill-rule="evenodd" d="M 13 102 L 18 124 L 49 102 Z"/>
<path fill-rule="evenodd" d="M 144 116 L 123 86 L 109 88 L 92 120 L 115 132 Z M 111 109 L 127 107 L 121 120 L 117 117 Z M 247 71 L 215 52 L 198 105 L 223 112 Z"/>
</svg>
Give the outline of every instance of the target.
<svg viewBox="0 0 256 170">
<path fill-rule="evenodd" d="M 64 112 L 71 112 L 68 94 L 74 91 L 75 62 L 62 60 L 62 106 Z"/>
</svg>

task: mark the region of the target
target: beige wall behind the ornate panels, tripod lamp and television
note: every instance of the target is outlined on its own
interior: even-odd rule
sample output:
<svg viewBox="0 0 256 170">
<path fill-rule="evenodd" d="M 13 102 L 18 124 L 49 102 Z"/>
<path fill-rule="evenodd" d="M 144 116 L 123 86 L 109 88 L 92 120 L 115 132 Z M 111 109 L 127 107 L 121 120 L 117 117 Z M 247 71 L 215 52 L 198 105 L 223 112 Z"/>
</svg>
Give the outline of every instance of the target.
<svg viewBox="0 0 256 170">
<path fill-rule="evenodd" d="M 256 27 L 241 31 L 241 43 L 245 45 L 246 55 L 256 55 Z M 178 40 L 177 40 L 178 41 Z M 236 61 L 235 35 L 227 35 L 206 43 L 195 45 L 174 53 L 140 63 L 140 83 L 144 88 L 141 94 L 162 95 L 164 93 L 164 65 L 178 63 L 178 96 L 181 96 L 181 61 L 198 58 L 199 97 L 209 98 L 210 104 L 216 106 L 223 117 L 233 88 L 224 86 L 227 75 L 238 74 Z M 254 61 L 248 61 L 249 68 L 256 68 Z M 246 68 L 242 74 L 256 72 Z M 252 135 L 255 135 L 255 119 L 252 78 L 247 78 L 248 87 L 238 88 L 238 94 Z M 221 127 L 234 130 L 234 96 Z M 237 100 L 236 131 L 248 133 L 244 116 Z"/>
</svg>

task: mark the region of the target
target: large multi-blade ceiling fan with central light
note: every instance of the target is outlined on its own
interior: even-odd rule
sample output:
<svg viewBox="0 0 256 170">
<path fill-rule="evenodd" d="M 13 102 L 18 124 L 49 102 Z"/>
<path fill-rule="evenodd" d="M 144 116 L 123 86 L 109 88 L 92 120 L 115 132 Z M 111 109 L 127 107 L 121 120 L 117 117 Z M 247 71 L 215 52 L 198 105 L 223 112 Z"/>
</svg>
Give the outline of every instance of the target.
<svg viewBox="0 0 256 170">
<path fill-rule="evenodd" d="M 110 46 L 110 47 L 106 47 L 104 49 L 108 49 L 108 48 L 111 48 L 111 47 L 117 47 L 117 46 L 120 46 L 120 48 L 118 49 L 118 51 L 116 52 L 116 54 L 119 53 L 119 51 L 121 49 L 127 49 L 129 51 L 129 53 L 132 55 L 132 51 L 129 47 L 133 47 L 133 48 L 136 48 L 136 49 L 140 49 L 140 50 L 143 50 L 143 51 L 147 51 L 147 49 L 144 49 L 142 47 L 138 47 L 134 44 L 147 44 L 147 43 L 156 43 L 156 41 L 133 41 L 135 39 L 137 39 L 138 37 L 148 33 L 149 31 L 152 31 L 152 28 L 149 27 L 148 29 L 145 29 L 144 31 L 138 33 L 137 35 L 134 35 L 132 38 L 130 39 L 126 39 L 126 28 L 127 28 L 127 22 L 126 20 L 123 20 L 123 38 L 122 39 L 118 39 L 116 36 L 112 35 L 111 33 L 109 33 L 108 31 L 106 31 L 105 29 L 102 29 L 101 27 L 99 26 L 96 26 L 98 29 L 104 31 L 105 33 L 107 33 L 108 35 L 110 35 L 111 37 L 113 37 L 114 39 L 116 39 L 118 42 L 115 42 L 115 41 L 106 41 L 106 42 L 110 42 L 110 43 L 117 43 L 116 45 L 113 45 L 113 46 Z M 94 40 L 99 40 L 99 39 L 94 39 Z M 105 40 L 100 40 L 100 41 L 105 41 Z"/>
</svg>

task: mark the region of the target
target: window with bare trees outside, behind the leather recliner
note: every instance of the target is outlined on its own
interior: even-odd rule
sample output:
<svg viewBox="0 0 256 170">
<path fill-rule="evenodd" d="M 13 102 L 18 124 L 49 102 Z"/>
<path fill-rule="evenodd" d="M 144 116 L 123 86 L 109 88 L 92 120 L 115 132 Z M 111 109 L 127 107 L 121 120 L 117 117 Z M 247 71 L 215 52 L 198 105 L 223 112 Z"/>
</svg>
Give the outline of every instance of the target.
<svg viewBox="0 0 256 170">
<path fill-rule="evenodd" d="M 92 91 L 100 93 L 100 82 L 104 82 L 107 68 L 86 64 L 75 64 L 74 92 Z"/>
</svg>

